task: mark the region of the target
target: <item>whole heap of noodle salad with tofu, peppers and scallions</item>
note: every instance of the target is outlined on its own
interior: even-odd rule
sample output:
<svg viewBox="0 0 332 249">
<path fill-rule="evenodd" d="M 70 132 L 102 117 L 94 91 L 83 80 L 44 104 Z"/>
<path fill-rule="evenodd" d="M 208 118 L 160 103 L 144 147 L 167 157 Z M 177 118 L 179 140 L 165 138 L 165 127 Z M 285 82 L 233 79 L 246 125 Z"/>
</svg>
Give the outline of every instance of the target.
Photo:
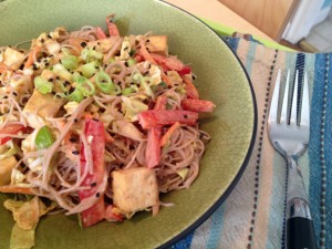
<svg viewBox="0 0 332 249">
<path fill-rule="evenodd" d="M 56 28 L 29 50 L 0 48 L 0 193 L 15 194 L 4 201 L 12 232 L 50 210 L 79 214 L 82 227 L 156 215 L 159 193 L 198 175 L 210 139 L 198 113 L 214 103 L 166 35 L 121 37 L 112 19 L 107 34 Z"/>
</svg>

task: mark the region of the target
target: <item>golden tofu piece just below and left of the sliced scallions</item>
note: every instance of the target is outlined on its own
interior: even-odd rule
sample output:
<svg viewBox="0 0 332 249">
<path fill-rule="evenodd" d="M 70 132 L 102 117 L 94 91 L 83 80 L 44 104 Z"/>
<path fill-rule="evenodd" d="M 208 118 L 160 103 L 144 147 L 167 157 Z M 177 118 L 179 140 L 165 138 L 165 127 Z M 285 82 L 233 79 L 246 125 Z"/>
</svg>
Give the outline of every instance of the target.
<svg viewBox="0 0 332 249">
<path fill-rule="evenodd" d="M 54 117 L 63 104 L 64 101 L 54 98 L 53 94 L 42 94 L 34 90 L 23 110 L 23 115 L 31 127 L 38 128 L 45 125 L 45 117 Z"/>
</svg>

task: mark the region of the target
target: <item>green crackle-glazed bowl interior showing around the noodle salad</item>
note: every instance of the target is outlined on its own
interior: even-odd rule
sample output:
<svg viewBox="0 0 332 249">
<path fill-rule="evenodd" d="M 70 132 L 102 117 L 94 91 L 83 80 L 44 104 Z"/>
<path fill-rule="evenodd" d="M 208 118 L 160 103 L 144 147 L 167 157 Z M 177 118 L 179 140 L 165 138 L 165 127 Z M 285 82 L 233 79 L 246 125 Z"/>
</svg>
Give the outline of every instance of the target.
<svg viewBox="0 0 332 249">
<path fill-rule="evenodd" d="M 6 0 L 0 2 L 0 45 L 35 38 L 64 25 L 75 30 L 92 24 L 105 28 L 116 13 L 121 34 L 167 34 L 169 50 L 190 63 L 203 98 L 217 104 L 201 120 L 211 134 L 199 177 L 188 190 L 167 194 L 153 218 L 138 214 L 122 224 L 79 227 L 76 217 L 44 217 L 37 229 L 38 248 L 157 248 L 169 247 L 200 225 L 229 195 L 253 146 L 256 102 L 249 79 L 228 45 L 207 25 L 186 12 L 155 0 Z M 0 196 L 0 203 L 7 198 Z M 13 220 L 0 206 L 0 248 L 9 246 Z"/>
</svg>

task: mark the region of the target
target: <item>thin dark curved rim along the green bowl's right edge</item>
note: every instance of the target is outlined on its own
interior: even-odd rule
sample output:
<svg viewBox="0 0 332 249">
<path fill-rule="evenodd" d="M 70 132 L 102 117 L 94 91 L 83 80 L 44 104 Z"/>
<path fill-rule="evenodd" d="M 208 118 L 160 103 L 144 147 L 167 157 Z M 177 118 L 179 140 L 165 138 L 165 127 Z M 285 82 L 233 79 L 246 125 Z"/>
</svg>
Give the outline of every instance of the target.
<svg viewBox="0 0 332 249">
<path fill-rule="evenodd" d="M 173 3 L 165 2 L 164 0 L 160 0 L 160 2 L 163 2 L 164 4 L 167 4 L 170 8 L 178 9 L 178 10 L 183 11 L 185 14 L 188 14 L 191 18 L 198 20 L 199 22 L 205 24 L 207 28 L 209 28 L 216 35 L 218 35 L 218 38 L 227 45 L 227 48 L 231 51 L 232 55 L 235 56 L 235 59 L 239 62 L 240 66 L 242 68 L 242 71 L 245 72 L 245 75 L 247 77 L 247 81 L 248 81 L 248 84 L 250 87 L 251 100 L 252 100 L 252 104 L 253 104 L 253 127 L 252 127 L 251 139 L 250 139 L 250 144 L 249 144 L 246 157 L 243 159 L 242 165 L 240 166 L 239 172 L 237 173 L 236 177 L 232 179 L 230 185 L 227 187 L 227 189 L 224 191 L 224 194 L 217 199 L 217 201 L 212 206 L 210 206 L 208 208 L 208 210 L 206 212 L 204 212 L 198 219 L 196 219 L 195 222 L 189 225 L 189 227 L 181 230 L 177 236 L 173 237 L 168 241 L 166 241 L 157 247 L 157 249 L 167 249 L 167 248 L 170 248 L 172 246 L 174 246 L 176 242 L 180 241 L 186 236 L 188 236 L 196 228 L 198 228 L 205 220 L 207 220 L 217 210 L 217 208 L 220 207 L 220 205 L 228 198 L 230 193 L 234 190 L 234 188 L 240 180 L 241 176 L 243 175 L 243 173 L 249 164 L 249 159 L 251 157 L 251 154 L 252 154 L 252 151 L 255 147 L 255 143 L 256 143 L 256 134 L 257 134 L 257 126 L 258 126 L 258 110 L 257 110 L 256 94 L 253 91 L 253 85 L 250 80 L 250 76 L 249 76 L 243 63 L 238 58 L 238 55 L 235 53 L 235 51 L 230 48 L 230 45 L 226 42 L 226 40 L 222 37 L 220 37 L 212 28 L 210 28 L 208 24 L 206 24 L 204 21 L 201 21 L 199 18 L 195 17 L 194 14 L 189 13 L 188 11 L 181 9 L 180 7 L 174 6 Z"/>
</svg>

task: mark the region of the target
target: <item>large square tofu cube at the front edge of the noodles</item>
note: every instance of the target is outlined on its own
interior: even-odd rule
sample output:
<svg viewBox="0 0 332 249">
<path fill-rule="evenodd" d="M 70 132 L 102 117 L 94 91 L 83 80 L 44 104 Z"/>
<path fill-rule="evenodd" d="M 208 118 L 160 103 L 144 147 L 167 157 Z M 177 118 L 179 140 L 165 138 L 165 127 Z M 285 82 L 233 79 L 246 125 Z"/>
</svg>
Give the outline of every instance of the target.
<svg viewBox="0 0 332 249">
<path fill-rule="evenodd" d="M 159 204 L 159 191 L 155 172 L 138 167 L 112 173 L 113 201 L 125 215 Z"/>
</svg>

